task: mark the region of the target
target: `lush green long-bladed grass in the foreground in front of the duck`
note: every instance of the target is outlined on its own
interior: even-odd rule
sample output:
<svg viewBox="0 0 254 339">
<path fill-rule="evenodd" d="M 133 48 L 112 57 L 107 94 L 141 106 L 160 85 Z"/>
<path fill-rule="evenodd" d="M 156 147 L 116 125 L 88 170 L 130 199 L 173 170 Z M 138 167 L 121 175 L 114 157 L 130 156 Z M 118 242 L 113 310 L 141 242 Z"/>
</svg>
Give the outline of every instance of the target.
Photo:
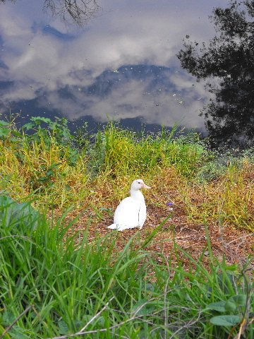
<svg viewBox="0 0 254 339">
<path fill-rule="evenodd" d="M 87 339 L 226 339 L 241 328 L 242 338 L 254 338 L 250 276 L 214 258 L 208 234 L 209 268 L 204 253 L 195 261 L 176 243 L 173 264 L 145 250 L 151 237 L 134 237 L 119 253 L 115 233 L 66 237 L 65 215 L 47 220 L 30 204 L 0 198 L 0 338 L 15 321 L 4 339 L 81 338 L 74 333 L 82 329 Z M 234 326 L 214 324 L 225 314 Z"/>
</svg>

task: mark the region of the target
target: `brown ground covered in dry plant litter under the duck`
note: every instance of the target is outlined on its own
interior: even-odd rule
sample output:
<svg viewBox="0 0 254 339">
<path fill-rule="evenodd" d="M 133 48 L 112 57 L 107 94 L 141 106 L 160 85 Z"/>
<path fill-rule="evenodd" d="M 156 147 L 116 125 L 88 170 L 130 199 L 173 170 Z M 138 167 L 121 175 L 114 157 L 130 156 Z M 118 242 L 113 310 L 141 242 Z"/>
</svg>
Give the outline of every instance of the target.
<svg viewBox="0 0 254 339">
<path fill-rule="evenodd" d="M 142 230 L 137 228 L 117 232 L 116 251 L 121 251 L 131 237 L 135 234 L 140 238 L 141 243 L 145 242 L 147 236 L 155 230 L 160 222 L 172 213 L 172 217 L 163 225 L 162 229 L 157 232 L 152 241 L 147 244 L 146 249 L 152 252 L 164 254 L 167 258 L 177 261 L 174 254 L 174 241 L 182 249 L 191 254 L 196 260 L 202 256 L 202 263 L 207 264 L 209 261 L 209 251 L 207 248 L 206 227 L 210 237 L 210 243 L 214 256 L 222 260 L 225 258 L 229 264 L 244 263 L 249 256 L 253 255 L 254 234 L 246 230 L 237 230 L 231 225 L 219 226 L 216 223 L 204 225 L 202 223 L 189 222 L 185 209 L 174 207 L 171 211 L 169 208 L 159 208 L 150 206 L 147 209 L 147 221 Z M 91 222 L 88 227 L 89 239 L 95 239 L 98 235 L 105 236 L 114 234 L 116 231 L 107 229 L 112 222 L 112 218 L 105 216 L 103 222 Z M 73 226 L 73 231 L 87 230 L 87 215 L 78 220 Z M 139 242 L 140 243 L 140 242 Z M 186 256 L 179 253 L 181 261 L 188 266 L 190 263 Z M 158 261 L 160 261 L 158 256 Z"/>
</svg>

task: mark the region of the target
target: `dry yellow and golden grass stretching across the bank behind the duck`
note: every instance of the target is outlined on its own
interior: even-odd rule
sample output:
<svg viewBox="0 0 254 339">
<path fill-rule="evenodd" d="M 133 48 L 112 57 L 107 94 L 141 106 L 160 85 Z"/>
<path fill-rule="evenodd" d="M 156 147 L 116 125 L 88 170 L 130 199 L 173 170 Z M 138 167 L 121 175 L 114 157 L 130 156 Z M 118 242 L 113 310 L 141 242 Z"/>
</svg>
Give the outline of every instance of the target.
<svg viewBox="0 0 254 339">
<path fill-rule="evenodd" d="M 23 143 L 21 148 L 0 141 L 1 191 L 18 201 L 31 199 L 41 210 L 62 212 L 69 206 L 77 214 L 87 210 L 87 219 L 92 214 L 99 222 L 104 214 L 99 208 L 115 208 L 128 195 L 133 179 L 142 177 L 152 186 L 145 193 L 148 207 L 163 211 L 167 201 L 174 201 L 190 222 L 254 230 L 254 165 L 248 158 L 241 167 L 229 165 L 217 179 L 199 184 L 193 173 L 204 162 L 200 145 L 166 139 L 135 142 L 123 131 L 111 129 L 105 134 L 104 167 L 95 175 L 88 168 L 91 155 L 80 153 L 75 166 L 70 165 L 68 147 L 54 139 L 50 145 L 41 140 Z"/>
</svg>

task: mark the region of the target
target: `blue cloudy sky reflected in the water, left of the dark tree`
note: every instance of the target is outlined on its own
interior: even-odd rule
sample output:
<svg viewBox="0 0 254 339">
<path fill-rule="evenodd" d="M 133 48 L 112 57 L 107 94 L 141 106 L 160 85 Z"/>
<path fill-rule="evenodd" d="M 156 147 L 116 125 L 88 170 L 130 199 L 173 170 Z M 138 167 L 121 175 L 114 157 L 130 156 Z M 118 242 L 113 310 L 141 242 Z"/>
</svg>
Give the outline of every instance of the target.
<svg viewBox="0 0 254 339">
<path fill-rule="evenodd" d="M 226 0 L 98 0 L 83 28 L 45 13 L 43 2 L 0 4 L 0 113 L 143 117 L 203 129 L 198 112 L 209 94 L 176 52 L 187 34 L 214 35 L 208 16 Z"/>
</svg>

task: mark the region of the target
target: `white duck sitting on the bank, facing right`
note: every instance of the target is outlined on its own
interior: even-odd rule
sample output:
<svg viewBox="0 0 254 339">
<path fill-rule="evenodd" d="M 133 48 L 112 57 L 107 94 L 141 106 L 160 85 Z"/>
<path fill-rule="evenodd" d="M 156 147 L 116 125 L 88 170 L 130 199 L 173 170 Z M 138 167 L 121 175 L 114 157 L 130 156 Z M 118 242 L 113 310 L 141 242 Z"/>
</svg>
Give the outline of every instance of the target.
<svg viewBox="0 0 254 339">
<path fill-rule="evenodd" d="M 131 196 L 124 198 L 114 213 L 114 224 L 108 226 L 111 230 L 123 231 L 128 228 L 142 229 L 146 219 L 145 198 L 140 189 L 150 189 L 142 179 L 136 179 L 131 184 Z"/>
</svg>

